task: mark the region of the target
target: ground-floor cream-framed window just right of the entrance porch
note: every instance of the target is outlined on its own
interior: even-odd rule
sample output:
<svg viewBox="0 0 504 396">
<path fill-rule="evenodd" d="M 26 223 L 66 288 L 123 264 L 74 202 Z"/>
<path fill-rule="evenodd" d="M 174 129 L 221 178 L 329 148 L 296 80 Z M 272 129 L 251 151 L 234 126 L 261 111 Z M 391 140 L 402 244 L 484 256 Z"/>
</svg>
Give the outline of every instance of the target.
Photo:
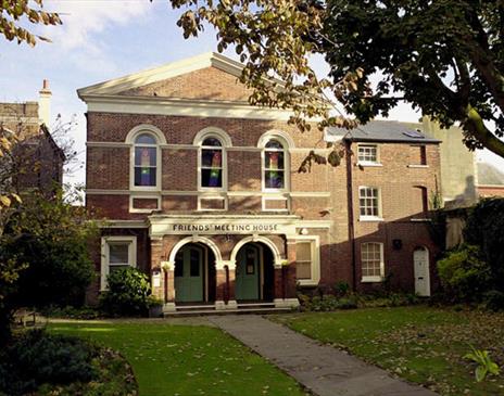
<svg viewBox="0 0 504 396">
<path fill-rule="evenodd" d="M 301 285 L 317 284 L 320 280 L 318 239 L 300 238 L 295 241 L 295 278 Z"/>
</svg>

